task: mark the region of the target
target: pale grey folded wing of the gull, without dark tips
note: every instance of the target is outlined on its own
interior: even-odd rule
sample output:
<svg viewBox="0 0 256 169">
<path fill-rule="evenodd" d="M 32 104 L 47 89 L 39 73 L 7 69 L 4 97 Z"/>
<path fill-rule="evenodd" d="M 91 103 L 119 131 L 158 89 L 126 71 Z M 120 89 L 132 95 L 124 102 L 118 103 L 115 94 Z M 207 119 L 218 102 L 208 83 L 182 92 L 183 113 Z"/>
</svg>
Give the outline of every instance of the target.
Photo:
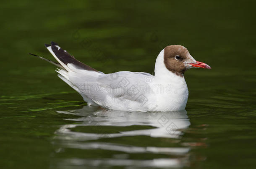
<svg viewBox="0 0 256 169">
<path fill-rule="evenodd" d="M 69 79 L 78 86 L 79 93 L 103 107 L 112 103 L 115 106 L 118 103 L 127 104 L 128 107 L 131 103 L 143 104 L 147 95 L 152 93 L 150 83 L 153 78 L 149 73 L 129 71 L 101 74 L 97 77 L 82 72 L 69 73 Z"/>
</svg>

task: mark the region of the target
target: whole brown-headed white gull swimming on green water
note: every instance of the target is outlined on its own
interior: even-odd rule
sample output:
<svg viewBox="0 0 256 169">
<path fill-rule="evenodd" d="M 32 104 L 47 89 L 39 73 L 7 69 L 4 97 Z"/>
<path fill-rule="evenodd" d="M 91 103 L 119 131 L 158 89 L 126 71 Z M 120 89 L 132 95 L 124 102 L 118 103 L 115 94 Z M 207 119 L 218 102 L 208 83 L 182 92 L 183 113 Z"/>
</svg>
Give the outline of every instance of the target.
<svg viewBox="0 0 256 169">
<path fill-rule="evenodd" d="M 105 74 L 76 60 L 51 42 L 45 47 L 57 60 L 58 77 L 76 90 L 91 106 L 122 111 L 180 111 L 188 101 L 184 73 L 190 68 L 211 69 L 196 61 L 182 45 L 166 46 L 157 56 L 154 76 L 144 72 Z"/>
</svg>

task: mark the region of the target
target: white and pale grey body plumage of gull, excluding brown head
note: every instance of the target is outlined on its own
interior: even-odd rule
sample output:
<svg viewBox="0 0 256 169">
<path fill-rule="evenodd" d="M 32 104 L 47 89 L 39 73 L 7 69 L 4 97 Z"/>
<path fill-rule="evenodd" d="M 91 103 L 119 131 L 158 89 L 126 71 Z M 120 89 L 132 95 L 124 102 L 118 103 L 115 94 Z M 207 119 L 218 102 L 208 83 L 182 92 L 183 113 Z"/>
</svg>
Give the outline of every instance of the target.
<svg viewBox="0 0 256 169">
<path fill-rule="evenodd" d="M 57 72 L 89 105 L 123 111 L 184 110 L 188 100 L 185 79 L 167 70 L 163 53 L 157 57 L 155 76 L 129 71 L 104 74 L 77 69 L 72 63 L 67 64 L 68 71 Z"/>
</svg>

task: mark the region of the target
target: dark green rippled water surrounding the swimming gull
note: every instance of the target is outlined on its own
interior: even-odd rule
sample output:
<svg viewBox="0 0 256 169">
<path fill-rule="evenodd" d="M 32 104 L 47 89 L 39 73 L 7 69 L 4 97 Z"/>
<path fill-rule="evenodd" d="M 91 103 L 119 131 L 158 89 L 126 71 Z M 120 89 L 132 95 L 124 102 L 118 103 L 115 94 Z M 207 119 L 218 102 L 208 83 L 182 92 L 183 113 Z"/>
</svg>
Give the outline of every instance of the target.
<svg viewBox="0 0 256 169">
<path fill-rule="evenodd" d="M 255 5 L 2 2 L 1 168 L 255 168 Z M 51 40 L 104 73 L 153 73 L 171 44 L 212 70 L 185 73 L 186 111 L 107 111 L 86 106 L 54 66 L 28 55 L 53 59 L 43 45 Z"/>
</svg>

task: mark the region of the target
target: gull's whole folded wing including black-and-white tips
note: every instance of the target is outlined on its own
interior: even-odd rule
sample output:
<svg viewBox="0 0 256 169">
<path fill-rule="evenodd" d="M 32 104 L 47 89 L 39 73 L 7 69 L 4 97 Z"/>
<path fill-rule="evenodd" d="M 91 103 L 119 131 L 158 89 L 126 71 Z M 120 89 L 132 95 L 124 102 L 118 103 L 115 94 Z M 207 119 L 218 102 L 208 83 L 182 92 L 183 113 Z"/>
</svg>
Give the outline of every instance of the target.
<svg viewBox="0 0 256 169">
<path fill-rule="evenodd" d="M 138 105 L 145 104 L 147 96 L 153 92 L 150 84 L 154 76 L 149 73 L 121 71 L 104 74 L 76 60 L 57 43 L 51 42 L 51 45 L 45 46 L 58 63 L 35 56 L 58 66 L 58 76 L 89 104 L 96 103 L 112 109 L 134 106 L 137 110 Z"/>
</svg>

